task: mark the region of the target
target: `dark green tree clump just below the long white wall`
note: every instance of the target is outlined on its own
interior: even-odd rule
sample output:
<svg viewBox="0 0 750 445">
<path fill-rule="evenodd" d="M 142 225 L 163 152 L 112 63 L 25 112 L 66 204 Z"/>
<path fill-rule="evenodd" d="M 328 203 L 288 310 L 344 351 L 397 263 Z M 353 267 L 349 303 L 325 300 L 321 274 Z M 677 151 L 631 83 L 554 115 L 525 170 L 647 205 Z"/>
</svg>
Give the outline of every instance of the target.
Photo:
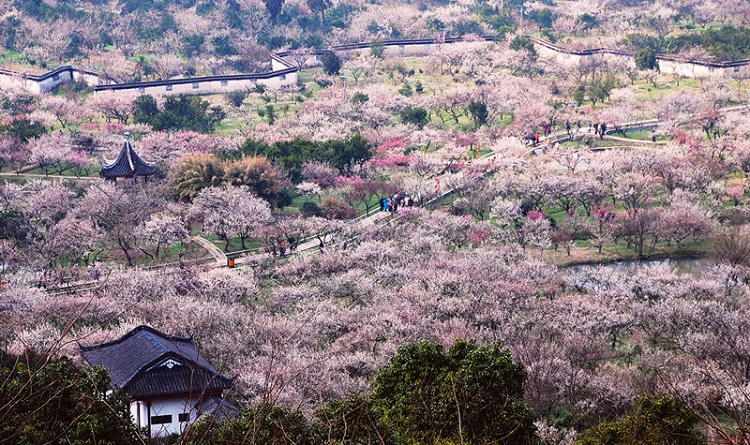
<svg viewBox="0 0 750 445">
<path fill-rule="evenodd" d="M 226 113 L 221 107 L 210 107 L 210 103 L 198 96 L 168 96 L 163 110 L 151 95 L 139 96 L 135 101 L 133 116 L 136 122 L 148 124 L 156 131 L 193 130 L 213 133 Z M 209 108 L 210 107 L 210 108 Z"/>
</svg>

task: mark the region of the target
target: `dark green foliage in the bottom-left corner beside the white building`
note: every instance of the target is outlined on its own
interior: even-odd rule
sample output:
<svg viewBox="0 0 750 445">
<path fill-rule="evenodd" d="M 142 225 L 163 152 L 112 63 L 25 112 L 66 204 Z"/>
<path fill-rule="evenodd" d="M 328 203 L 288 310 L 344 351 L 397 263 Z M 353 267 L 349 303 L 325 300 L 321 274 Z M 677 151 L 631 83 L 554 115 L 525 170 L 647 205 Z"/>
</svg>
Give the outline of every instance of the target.
<svg viewBox="0 0 750 445">
<path fill-rule="evenodd" d="M 11 358 L 0 369 L 0 441 L 25 444 L 132 444 L 128 401 L 107 393 L 101 368 L 82 371 L 67 358 Z"/>
</svg>

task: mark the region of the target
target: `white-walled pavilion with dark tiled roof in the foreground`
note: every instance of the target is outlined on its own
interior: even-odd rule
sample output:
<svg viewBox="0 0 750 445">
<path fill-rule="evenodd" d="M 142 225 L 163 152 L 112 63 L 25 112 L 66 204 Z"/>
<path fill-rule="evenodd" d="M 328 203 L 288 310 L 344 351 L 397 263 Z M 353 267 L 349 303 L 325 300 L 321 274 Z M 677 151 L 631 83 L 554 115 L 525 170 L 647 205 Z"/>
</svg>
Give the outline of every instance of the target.
<svg viewBox="0 0 750 445">
<path fill-rule="evenodd" d="M 132 418 L 151 437 L 181 434 L 207 414 L 219 419 L 237 415 L 237 407 L 224 398 L 235 379 L 219 374 L 198 353 L 192 337 L 138 326 L 116 340 L 78 347 L 89 365 L 109 371 L 112 389 L 132 398 Z"/>
</svg>

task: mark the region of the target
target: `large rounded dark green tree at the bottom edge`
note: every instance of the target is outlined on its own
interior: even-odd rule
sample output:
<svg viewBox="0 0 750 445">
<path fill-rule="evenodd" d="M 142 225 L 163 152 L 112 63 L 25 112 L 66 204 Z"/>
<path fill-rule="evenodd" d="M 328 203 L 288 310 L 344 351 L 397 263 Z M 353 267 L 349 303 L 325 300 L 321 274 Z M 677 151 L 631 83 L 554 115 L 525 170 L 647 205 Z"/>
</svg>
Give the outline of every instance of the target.
<svg viewBox="0 0 750 445">
<path fill-rule="evenodd" d="M 526 372 L 500 344 L 399 348 L 373 383 L 375 407 L 403 443 L 529 444 Z"/>
</svg>

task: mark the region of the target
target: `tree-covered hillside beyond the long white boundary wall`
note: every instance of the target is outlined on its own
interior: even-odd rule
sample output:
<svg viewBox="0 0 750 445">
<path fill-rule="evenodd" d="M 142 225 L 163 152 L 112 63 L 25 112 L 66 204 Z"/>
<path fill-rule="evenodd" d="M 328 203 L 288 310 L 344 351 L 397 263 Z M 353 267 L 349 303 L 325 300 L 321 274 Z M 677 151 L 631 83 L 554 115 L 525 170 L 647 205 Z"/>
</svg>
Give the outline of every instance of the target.
<svg viewBox="0 0 750 445">
<path fill-rule="evenodd" d="M 3 65 L 75 63 L 121 80 L 263 72 L 269 51 L 351 42 L 539 33 L 715 60 L 750 57 L 746 2 L 509 0 L 409 4 L 329 0 L 12 0 L 0 5 Z"/>
</svg>

